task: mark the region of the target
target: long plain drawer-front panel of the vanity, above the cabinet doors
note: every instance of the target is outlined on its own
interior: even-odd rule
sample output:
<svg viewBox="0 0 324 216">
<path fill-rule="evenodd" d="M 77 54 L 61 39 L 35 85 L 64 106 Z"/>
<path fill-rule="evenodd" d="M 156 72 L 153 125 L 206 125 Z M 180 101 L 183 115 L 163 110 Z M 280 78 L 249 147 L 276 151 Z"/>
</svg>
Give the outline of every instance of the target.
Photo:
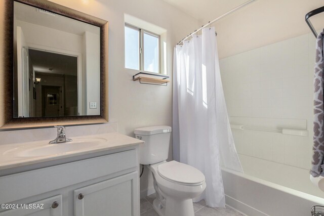
<svg viewBox="0 0 324 216">
<path fill-rule="evenodd" d="M 46 193 L 136 167 L 137 150 L 35 169 L 0 177 L 0 203 Z M 28 182 L 28 187 L 26 187 Z M 9 187 L 10 186 L 10 187 Z"/>
</svg>

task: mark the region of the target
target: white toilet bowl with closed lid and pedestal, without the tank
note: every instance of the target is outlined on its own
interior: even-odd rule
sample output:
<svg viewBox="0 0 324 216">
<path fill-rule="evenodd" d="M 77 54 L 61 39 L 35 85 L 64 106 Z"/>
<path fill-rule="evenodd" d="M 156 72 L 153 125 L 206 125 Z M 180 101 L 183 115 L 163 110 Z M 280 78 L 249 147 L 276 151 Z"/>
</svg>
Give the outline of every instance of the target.
<svg viewBox="0 0 324 216">
<path fill-rule="evenodd" d="M 154 210 L 160 216 L 194 216 L 192 198 L 204 192 L 204 174 L 177 161 L 163 161 L 147 167 L 152 171 L 155 191 L 161 195 L 153 202 Z"/>
</svg>

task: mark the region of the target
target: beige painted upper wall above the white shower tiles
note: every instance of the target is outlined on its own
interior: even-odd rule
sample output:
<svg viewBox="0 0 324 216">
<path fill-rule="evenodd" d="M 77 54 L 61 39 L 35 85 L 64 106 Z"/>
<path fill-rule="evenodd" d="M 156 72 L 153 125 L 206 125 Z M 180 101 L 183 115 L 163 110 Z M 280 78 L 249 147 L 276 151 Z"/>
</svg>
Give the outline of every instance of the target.
<svg viewBox="0 0 324 216">
<path fill-rule="evenodd" d="M 323 0 L 258 0 L 226 16 L 214 23 L 219 58 L 310 33 L 305 15 L 323 5 Z M 324 13 L 310 20 L 315 29 L 324 28 Z M 310 38 L 314 47 L 315 37 Z"/>
</svg>

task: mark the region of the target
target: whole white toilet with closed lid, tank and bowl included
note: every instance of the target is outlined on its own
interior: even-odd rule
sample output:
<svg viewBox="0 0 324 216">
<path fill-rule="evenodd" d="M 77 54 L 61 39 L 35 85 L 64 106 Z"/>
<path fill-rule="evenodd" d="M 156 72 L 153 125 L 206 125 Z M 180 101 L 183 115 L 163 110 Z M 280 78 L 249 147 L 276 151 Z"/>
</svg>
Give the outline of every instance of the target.
<svg viewBox="0 0 324 216">
<path fill-rule="evenodd" d="M 134 130 L 140 145 L 140 163 L 153 174 L 156 199 L 154 210 L 160 216 L 194 216 L 192 198 L 206 188 L 205 176 L 198 169 L 177 161 L 167 162 L 170 126 L 141 127 Z"/>
</svg>

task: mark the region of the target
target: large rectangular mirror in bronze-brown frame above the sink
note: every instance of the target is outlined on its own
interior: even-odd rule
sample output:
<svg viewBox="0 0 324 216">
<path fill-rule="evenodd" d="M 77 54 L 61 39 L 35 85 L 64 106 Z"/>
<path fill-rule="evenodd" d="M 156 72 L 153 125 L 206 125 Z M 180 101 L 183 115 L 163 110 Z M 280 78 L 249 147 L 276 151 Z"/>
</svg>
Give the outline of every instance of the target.
<svg viewBox="0 0 324 216">
<path fill-rule="evenodd" d="M 107 122 L 108 22 L 46 0 L 0 4 L 0 129 Z"/>
</svg>

